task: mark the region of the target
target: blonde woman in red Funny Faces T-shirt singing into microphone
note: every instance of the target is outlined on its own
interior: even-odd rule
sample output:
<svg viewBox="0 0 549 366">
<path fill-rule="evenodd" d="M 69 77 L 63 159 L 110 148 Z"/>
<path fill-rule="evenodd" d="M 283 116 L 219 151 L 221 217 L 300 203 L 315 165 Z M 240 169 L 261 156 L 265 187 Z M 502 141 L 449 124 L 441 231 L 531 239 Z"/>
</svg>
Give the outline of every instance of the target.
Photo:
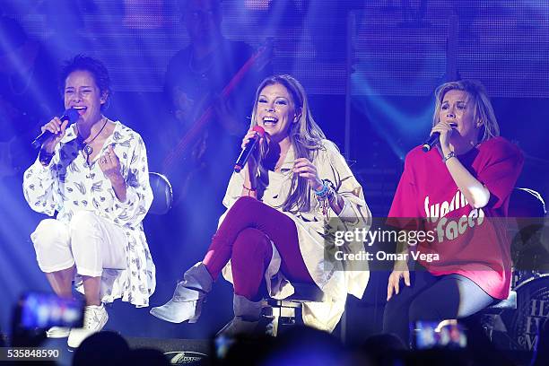
<svg viewBox="0 0 549 366">
<path fill-rule="evenodd" d="M 431 232 L 417 247 L 400 243 L 403 253 L 425 256 L 414 272 L 397 261 L 388 279 L 384 331 L 406 344 L 411 322 L 464 318 L 510 290 L 510 242 L 493 218 L 507 216 L 522 154 L 499 136 L 492 104 L 474 81 L 440 85 L 433 133 L 437 148 L 407 154 L 388 214 L 399 229 Z"/>
</svg>

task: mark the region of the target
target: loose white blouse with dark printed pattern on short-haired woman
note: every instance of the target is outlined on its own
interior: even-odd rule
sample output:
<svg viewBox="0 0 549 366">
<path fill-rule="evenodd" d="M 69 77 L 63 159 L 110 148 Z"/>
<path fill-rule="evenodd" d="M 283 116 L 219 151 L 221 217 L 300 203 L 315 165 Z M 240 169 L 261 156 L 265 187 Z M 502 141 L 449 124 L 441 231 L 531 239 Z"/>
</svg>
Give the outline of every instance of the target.
<svg viewBox="0 0 549 366">
<path fill-rule="evenodd" d="M 126 234 L 126 270 L 105 269 L 101 299 L 122 298 L 137 307 L 148 306 L 155 288 L 155 267 L 143 231 L 143 219 L 153 202 L 144 141 L 131 128 L 115 122 L 113 133 L 97 155 L 113 146 L 126 180 L 126 201 L 120 202 L 110 180 L 100 170 L 97 158 L 90 164 L 79 149 L 74 126 L 56 146 L 55 155 L 44 167 L 37 159 L 23 175 L 23 193 L 39 213 L 70 222 L 74 213 L 92 211 L 119 225 Z M 77 289 L 82 283 L 76 279 Z"/>
</svg>

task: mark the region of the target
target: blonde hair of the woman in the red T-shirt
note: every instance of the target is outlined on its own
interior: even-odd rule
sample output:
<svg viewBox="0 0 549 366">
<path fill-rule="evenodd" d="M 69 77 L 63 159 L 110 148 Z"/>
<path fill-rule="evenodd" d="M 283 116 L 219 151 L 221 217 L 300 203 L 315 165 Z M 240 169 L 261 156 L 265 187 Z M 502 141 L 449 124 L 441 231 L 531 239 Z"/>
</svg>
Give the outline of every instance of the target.
<svg viewBox="0 0 549 366">
<path fill-rule="evenodd" d="M 475 123 L 480 120 L 484 129 L 479 143 L 500 135 L 500 126 L 493 113 L 492 103 L 486 94 L 484 85 L 476 80 L 459 80 L 457 82 L 443 83 L 435 91 L 436 105 L 432 117 L 432 126 L 439 123 L 440 106 L 444 95 L 452 90 L 467 92 L 475 103 Z"/>
</svg>

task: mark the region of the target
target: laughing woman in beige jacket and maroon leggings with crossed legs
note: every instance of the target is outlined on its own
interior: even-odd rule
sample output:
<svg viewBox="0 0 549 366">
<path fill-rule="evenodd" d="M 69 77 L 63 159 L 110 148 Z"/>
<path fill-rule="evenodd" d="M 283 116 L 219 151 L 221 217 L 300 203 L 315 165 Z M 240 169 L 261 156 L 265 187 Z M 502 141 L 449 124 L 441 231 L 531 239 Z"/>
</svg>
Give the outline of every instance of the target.
<svg viewBox="0 0 549 366">
<path fill-rule="evenodd" d="M 223 199 L 228 210 L 204 259 L 187 270 L 172 299 L 151 313 L 174 323 L 196 322 L 222 273 L 234 285 L 234 318 L 223 334 L 257 330 L 260 289 L 282 299 L 292 294 L 293 282 L 326 294 L 323 303 L 305 304 L 303 320 L 332 331 L 347 293 L 362 297 L 368 273 L 337 271 L 327 263 L 325 218 L 370 223 L 362 187 L 315 123 L 301 83 L 291 76 L 272 76 L 259 85 L 254 126 L 263 127 L 266 137 L 244 169 L 232 174 Z M 242 147 L 256 135 L 250 128 Z M 351 249 L 361 248 L 362 243 Z"/>
</svg>

